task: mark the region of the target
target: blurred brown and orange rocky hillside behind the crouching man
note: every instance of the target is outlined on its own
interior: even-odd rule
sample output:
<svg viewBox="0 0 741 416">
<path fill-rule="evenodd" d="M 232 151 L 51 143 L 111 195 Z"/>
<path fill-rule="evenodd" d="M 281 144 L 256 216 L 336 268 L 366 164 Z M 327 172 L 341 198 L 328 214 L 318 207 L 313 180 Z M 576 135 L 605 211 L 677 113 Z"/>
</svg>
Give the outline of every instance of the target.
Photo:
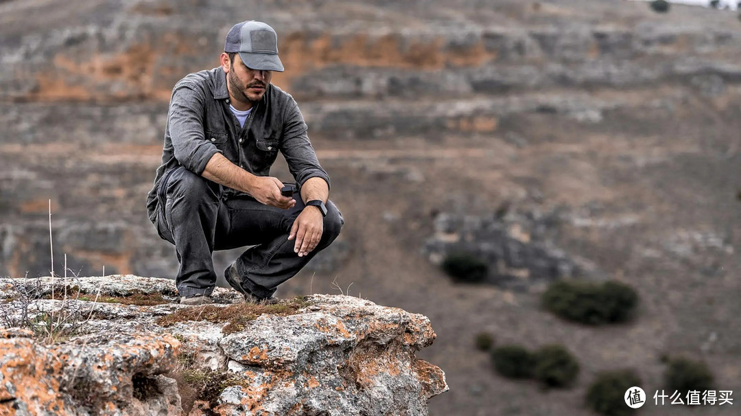
<svg viewBox="0 0 741 416">
<path fill-rule="evenodd" d="M 144 203 L 170 90 L 216 67 L 246 19 L 279 34 L 273 83 L 299 102 L 346 221 L 277 294 L 339 287 L 428 316 L 438 339 L 421 355 L 451 386 L 431 415 L 592 415 L 597 372 L 634 369 L 652 396 L 663 354 L 702 359 L 741 392 L 741 22 L 702 7 L 0 1 L 0 275 L 49 274 L 49 199 L 58 274 L 63 254 L 81 276 L 176 274 Z M 271 174 L 291 180 L 285 162 Z M 460 248 L 490 265 L 483 283 L 441 271 Z M 237 254 L 216 253 L 216 270 Z M 631 285 L 637 317 L 591 327 L 543 311 L 568 277 Z M 499 377 L 481 331 L 562 344 L 579 378 L 543 391 Z"/>
</svg>

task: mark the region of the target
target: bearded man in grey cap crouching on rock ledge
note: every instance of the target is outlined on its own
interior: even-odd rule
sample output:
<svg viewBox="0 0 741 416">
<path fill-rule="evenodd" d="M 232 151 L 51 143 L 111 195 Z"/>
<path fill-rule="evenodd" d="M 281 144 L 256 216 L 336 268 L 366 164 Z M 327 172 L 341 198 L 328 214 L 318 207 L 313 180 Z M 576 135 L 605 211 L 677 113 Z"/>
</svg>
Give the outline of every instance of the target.
<svg viewBox="0 0 741 416">
<path fill-rule="evenodd" d="M 159 236 L 175 245 L 180 303 L 213 303 L 211 254 L 245 245 L 255 246 L 227 267 L 227 282 L 248 302 L 275 303 L 277 286 L 330 245 L 344 223 L 328 200 L 330 179 L 296 101 L 270 84 L 273 71 L 283 70 L 277 44 L 268 24 L 236 24 L 221 66 L 173 88 L 147 212 Z M 268 176 L 278 151 L 299 185 L 290 197 Z"/>
</svg>

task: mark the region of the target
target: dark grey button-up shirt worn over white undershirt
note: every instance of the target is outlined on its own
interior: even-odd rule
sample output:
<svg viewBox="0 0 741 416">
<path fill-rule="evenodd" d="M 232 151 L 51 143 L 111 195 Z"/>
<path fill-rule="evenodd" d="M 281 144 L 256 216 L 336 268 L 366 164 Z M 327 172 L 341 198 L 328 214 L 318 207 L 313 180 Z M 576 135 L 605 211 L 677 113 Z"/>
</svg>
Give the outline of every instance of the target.
<svg viewBox="0 0 741 416">
<path fill-rule="evenodd" d="M 211 156 L 219 152 L 251 174 L 269 176 L 278 151 L 299 185 L 311 177 L 330 185 L 309 142 L 304 117 L 289 93 L 268 85 L 242 128 L 229 109 L 226 73 L 221 67 L 187 75 L 175 85 L 170 99 L 162 165 L 147 195 L 149 219 L 156 220 L 157 188 L 171 169 L 182 165 L 200 175 Z M 225 194 L 239 192 L 226 188 Z"/>
</svg>

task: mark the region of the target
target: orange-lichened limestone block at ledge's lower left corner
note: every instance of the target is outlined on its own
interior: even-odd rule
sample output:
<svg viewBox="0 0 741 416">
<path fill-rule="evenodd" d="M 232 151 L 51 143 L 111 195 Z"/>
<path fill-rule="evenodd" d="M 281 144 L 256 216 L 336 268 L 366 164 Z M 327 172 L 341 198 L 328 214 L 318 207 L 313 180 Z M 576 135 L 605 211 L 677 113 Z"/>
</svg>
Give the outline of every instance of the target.
<svg viewBox="0 0 741 416">
<path fill-rule="evenodd" d="M 33 332 L 0 329 L 1 415 L 180 415 L 169 335 L 109 334 L 42 346 Z"/>
</svg>

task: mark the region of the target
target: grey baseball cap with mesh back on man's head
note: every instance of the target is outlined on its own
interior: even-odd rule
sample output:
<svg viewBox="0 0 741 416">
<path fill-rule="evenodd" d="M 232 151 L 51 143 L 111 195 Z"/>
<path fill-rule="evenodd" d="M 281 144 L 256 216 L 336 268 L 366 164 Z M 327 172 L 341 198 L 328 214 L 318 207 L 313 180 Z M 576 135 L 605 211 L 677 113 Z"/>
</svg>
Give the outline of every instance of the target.
<svg viewBox="0 0 741 416">
<path fill-rule="evenodd" d="M 227 33 L 224 52 L 239 52 L 250 69 L 283 72 L 278 58 L 278 35 L 268 24 L 254 20 L 235 24 Z"/>
</svg>

